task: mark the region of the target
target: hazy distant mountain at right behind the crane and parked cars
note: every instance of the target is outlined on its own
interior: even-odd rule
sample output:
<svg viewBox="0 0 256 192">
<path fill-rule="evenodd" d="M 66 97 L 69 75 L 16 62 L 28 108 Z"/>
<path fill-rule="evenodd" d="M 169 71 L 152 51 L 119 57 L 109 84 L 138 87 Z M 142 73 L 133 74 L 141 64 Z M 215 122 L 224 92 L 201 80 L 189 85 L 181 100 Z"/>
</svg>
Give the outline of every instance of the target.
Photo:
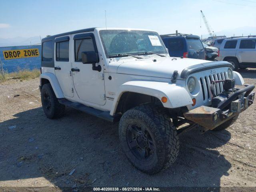
<svg viewBox="0 0 256 192">
<path fill-rule="evenodd" d="M 248 36 L 248 35 L 256 35 L 256 27 L 239 27 L 236 29 L 230 29 L 230 30 L 222 30 L 219 32 L 214 32 L 216 36 L 219 35 L 226 35 L 227 37 L 232 37 L 232 36 Z M 205 34 L 202 37 L 207 38 L 209 35 Z"/>
</svg>

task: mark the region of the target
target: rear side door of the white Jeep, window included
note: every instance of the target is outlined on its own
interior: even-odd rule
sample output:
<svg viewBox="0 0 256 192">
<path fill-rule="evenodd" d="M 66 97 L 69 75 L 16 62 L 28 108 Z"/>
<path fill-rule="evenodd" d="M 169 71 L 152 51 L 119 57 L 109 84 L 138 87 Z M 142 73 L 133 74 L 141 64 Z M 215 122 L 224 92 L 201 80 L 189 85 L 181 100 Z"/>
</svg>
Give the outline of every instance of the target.
<svg viewBox="0 0 256 192">
<path fill-rule="evenodd" d="M 54 42 L 54 70 L 63 94 L 68 97 L 74 96 L 70 46 L 71 35 L 55 38 Z"/>
</svg>

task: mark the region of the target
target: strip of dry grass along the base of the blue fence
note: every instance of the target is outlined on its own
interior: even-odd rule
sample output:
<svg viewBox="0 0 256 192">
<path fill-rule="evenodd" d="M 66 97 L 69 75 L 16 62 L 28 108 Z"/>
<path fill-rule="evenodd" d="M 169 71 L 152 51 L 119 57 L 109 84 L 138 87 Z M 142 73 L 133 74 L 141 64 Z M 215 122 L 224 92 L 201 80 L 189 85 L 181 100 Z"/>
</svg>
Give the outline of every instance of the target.
<svg viewBox="0 0 256 192">
<path fill-rule="evenodd" d="M 8 80 L 19 79 L 19 80 L 28 80 L 34 79 L 40 76 L 40 70 L 19 70 L 18 72 L 13 73 L 4 73 L 0 74 L 0 83 L 6 82 Z"/>
</svg>

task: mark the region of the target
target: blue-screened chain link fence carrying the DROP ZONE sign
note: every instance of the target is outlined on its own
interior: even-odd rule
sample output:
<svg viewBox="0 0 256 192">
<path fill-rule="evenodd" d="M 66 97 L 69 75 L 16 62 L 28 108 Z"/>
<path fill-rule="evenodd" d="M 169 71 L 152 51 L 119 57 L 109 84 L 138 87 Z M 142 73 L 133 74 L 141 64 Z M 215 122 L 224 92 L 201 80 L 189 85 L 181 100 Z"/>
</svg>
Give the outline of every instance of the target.
<svg viewBox="0 0 256 192">
<path fill-rule="evenodd" d="M 41 45 L 0 47 L 1 74 L 40 69 Z"/>
</svg>

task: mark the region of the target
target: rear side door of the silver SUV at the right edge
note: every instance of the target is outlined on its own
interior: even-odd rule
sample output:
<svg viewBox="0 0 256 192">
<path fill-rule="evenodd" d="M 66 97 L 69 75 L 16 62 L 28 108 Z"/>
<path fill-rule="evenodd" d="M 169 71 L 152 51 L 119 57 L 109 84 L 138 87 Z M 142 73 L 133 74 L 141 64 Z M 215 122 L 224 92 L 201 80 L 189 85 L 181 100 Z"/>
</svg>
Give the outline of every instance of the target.
<svg viewBox="0 0 256 192">
<path fill-rule="evenodd" d="M 256 39 L 241 39 L 236 56 L 244 66 L 256 64 Z"/>
</svg>

